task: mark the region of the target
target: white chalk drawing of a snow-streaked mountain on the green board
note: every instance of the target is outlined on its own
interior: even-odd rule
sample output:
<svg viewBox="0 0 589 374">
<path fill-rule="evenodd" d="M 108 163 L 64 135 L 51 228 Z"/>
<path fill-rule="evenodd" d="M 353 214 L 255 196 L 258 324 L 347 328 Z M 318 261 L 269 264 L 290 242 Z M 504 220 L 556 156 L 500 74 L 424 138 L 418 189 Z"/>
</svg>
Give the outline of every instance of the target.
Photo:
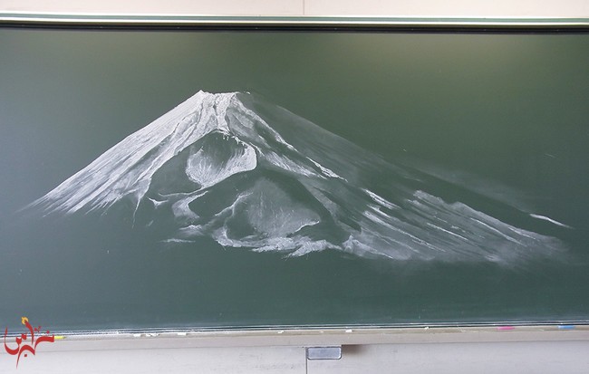
<svg viewBox="0 0 589 374">
<path fill-rule="evenodd" d="M 114 206 L 136 225 L 169 227 L 170 242 L 290 255 L 509 264 L 563 249 L 248 93 L 199 91 L 30 205 L 61 215 Z"/>
</svg>

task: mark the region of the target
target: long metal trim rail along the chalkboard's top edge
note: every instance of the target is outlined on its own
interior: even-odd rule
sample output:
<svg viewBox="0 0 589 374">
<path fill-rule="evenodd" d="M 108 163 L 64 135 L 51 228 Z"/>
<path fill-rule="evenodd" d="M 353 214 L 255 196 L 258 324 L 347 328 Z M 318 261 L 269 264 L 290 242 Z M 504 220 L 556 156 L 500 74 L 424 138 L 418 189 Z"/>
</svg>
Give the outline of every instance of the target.
<svg viewBox="0 0 589 374">
<path fill-rule="evenodd" d="M 589 31 L 589 18 L 447 18 L 215 16 L 172 14 L 0 13 L 0 25 L 101 29 L 294 29 L 294 30 L 446 30 L 446 31 Z"/>
</svg>

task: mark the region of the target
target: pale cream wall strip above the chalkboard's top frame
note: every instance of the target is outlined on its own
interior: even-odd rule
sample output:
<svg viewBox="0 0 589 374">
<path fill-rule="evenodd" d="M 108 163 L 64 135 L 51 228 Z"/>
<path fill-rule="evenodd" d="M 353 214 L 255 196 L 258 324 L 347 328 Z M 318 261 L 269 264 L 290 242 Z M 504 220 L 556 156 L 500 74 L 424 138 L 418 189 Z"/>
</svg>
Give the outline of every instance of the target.
<svg viewBox="0 0 589 374">
<path fill-rule="evenodd" d="M 587 17 L 586 0 L 0 0 L 0 12 L 428 17 Z"/>
</svg>

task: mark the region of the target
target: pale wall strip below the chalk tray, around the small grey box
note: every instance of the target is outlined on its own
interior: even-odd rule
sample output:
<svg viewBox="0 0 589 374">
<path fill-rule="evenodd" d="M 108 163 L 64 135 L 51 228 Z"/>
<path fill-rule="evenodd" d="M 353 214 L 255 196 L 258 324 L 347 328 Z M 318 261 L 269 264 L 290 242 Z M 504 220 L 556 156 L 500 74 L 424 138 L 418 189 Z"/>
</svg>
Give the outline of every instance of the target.
<svg viewBox="0 0 589 374">
<path fill-rule="evenodd" d="M 478 342 L 345 346 L 341 360 L 305 360 L 302 347 L 39 351 L 3 373 L 567 373 L 589 368 L 589 341 Z"/>
</svg>

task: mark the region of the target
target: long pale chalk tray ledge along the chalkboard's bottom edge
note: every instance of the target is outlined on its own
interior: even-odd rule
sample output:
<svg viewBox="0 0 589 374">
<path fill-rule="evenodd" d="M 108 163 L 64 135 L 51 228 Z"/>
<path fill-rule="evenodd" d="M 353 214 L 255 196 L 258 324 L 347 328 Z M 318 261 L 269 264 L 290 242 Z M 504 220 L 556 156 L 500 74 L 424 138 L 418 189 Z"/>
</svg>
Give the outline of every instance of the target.
<svg viewBox="0 0 589 374">
<path fill-rule="evenodd" d="M 10 342 L 14 338 L 9 338 Z M 126 350 L 199 347 L 340 346 L 363 344 L 423 344 L 507 341 L 589 340 L 589 326 L 574 330 L 557 325 L 478 327 L 406 327 L 361 329 L 285 329 L 241 331 L 96 331 L 62 333 L 45 351 Z"/>
</svg>

